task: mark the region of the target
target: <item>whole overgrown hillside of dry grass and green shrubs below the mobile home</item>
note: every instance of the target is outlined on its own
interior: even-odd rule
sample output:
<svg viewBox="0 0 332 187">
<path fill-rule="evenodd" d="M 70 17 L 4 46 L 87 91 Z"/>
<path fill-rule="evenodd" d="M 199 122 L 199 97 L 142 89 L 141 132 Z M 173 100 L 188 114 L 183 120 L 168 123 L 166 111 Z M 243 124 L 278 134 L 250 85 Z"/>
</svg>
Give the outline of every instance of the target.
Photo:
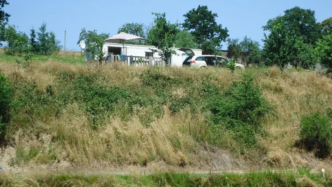
<svg viewBox="0 0 332 187">
<path fill-rule="evenodd" d="M 6 169 L 331 166 L 296 146 L 303 116 L 331 115 L 332 80 L 318 72 L 98 66 L 61 55 L 21 66 L 0 54 L 13 88 Z"/>
</svg>

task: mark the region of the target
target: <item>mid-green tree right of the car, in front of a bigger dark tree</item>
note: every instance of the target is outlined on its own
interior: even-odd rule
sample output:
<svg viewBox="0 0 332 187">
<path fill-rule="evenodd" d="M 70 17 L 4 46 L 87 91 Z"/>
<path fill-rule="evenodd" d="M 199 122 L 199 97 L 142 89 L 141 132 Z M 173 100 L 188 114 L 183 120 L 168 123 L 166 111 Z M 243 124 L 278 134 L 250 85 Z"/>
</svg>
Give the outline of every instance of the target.
<svg viewBox="0 0 332 187">
<path fill-rule="evenodd" d="M 293 59 L 293 46 L 296 42 L 295 33 L 288 30 L 282 18 L 269 20 L 268 27 L 264 31 L 270 31 L 267 36 L 264 33 L 263 56 L 266 65 L 278 65 L 283 69 Z"/>
</svg>

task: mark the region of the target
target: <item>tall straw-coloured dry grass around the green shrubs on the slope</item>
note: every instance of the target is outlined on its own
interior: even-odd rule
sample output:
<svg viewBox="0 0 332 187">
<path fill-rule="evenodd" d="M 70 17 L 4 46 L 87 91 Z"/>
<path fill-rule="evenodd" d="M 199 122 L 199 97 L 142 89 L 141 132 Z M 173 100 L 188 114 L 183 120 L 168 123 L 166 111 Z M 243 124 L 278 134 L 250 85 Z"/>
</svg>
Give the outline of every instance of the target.
<svg viewBox="0 0 332 187">
<path fill-rule="evenodd" d="M 142 87 L 139 75 L 147 71 L 146 67 L 127 67 L 120 63 L 98 66 L 52 60 L 36 62 L 28 68 L 0 63 L 0 69 L 12 81 L 25 79 L 35 82 L 39 92 L 45 92 L 49 85 L 55 88 L 55 92 L 59 91 L 61 85 L 55 77 L 60 71 L 68 71 L 74 76 L 102 73 L 106 79 L 100 80 L 100 83 L 106 87 L 116 85 L 131 89 Z M 211 76 L 213 83 L 222 90 L 227 90 L 232 82 L 241 80 L 242 73 L 216 68 L 161 68 L 158 71 L 168 77 L 193 77 L 196 82 L 202 77 Z M 229 169 L 245 167 L 245 163 L 250 165 L 253 162 L 260 166 L 276 167 L 313 166 L 319 163 L 312 154 L 294 147 L 294 144 L 298 140 L 303 115 L 326 113 L 331 108 L 331 79 L 313 71 L 282 73 L 277 67 L 248 71 L 253 72 L 255 84 L 262 87 L 264 97 L 272 105 L 271 113 L 262 122 L 267 136 L 260 138 L 260 143 L 266 150 L 265 159 L 260 162 L 250 155 L 230 156 L 228 152 L 236 152 L 234 149 L 237 146 L 227 132 L 220 135 L 225 142 L 223 150 L 201 142 L 208 134 L 206 117 L 190 108 L 174 115 L 170 113 L 168 106 L 164 106 L 162 116 L 154 119 L 148 128 L 138 120 L 139 115 L 144 113 L 134 113 L 128 121 L 117 116 L 105 116 L 105 125 L 94 130 L 89 125 L 85 111 L 74 103 L 66 106 L 59 116 L 50 114 L 50 118 L 39 122 L 38 127 L 29 128 L 42 128 L 53 137 L 62 137 L 61 141 L 54 142 L 57 152 L 60 154 L 65 151 L 66 157 L 80 166 L 145 166 L 151 162 L 165 162 L 177 166 Z M 198 90 L 186 90 L 174 85 L 172 95 L 180 99 L 187 92 L 198 94 Z"/>
</svg>

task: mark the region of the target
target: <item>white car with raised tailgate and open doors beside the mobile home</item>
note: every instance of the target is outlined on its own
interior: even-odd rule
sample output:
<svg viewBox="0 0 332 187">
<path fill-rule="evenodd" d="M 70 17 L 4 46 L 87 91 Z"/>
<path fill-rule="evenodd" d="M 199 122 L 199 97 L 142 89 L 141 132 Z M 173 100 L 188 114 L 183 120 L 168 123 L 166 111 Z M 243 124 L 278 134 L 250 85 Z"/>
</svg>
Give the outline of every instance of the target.
<svg viewBox="0 0 332 187">
<path fill-rule="evenodd" d="M 189 48 L 179 49 L 185 52 L 188 57 L 183 61 L 182 66 L 190 67 L 207 67 L 207 66 L 221 66 L 225 67 L 226 63 L 229 61 L 228 58 L 216 55 L 195 55 L 193 50 Z M 235 68 L 245 69 L 244 65 L 235 63 Z"/>
</svg>

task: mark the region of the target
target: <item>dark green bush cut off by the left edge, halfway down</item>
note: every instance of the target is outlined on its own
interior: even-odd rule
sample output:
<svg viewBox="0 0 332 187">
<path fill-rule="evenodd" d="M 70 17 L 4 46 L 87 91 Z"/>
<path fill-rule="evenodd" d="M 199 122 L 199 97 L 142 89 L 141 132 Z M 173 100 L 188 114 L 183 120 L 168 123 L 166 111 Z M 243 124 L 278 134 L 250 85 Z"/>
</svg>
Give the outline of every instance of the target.
<svg viewBox="0 0 332 187">
<path fill-rule="evenodd" d="M 9 79 L 0 72 L 0 136 L 6 130 L 10 120 L 9 109 L 12 103 L 13 88 L 9 85 Z"/>
</svg>

